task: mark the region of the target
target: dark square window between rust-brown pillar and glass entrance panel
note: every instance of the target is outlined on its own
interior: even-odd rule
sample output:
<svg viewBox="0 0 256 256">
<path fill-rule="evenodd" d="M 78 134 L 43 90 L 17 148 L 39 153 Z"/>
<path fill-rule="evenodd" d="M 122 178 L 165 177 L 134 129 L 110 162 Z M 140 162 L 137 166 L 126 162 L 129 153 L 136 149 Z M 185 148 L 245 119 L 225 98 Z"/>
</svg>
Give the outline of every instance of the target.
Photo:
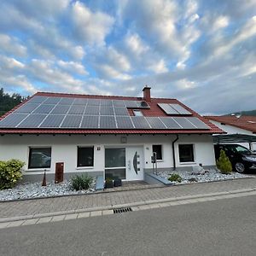
<svg viewBox="0 0 256 256">
<path fill-rule="evenodd" d="M 78 167 L 92 167 L 94 164 L 94 148 L 78 147 Z"/>
</svg>

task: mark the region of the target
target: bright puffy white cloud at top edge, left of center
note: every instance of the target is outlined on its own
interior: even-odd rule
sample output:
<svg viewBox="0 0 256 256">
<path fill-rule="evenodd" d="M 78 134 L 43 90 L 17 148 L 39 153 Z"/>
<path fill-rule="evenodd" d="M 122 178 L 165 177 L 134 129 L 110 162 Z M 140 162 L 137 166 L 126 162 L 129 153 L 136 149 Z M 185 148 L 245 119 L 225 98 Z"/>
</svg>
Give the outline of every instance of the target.
<svg viewBox="0 0 256 256">
<path fill-rule="evenodd" d="M 73 3 L 72 19 L 75 35 L 84 43 L 103 44 L 113 26 L 113 17 L 91 12 L 84 3 Z"/>
</svg>

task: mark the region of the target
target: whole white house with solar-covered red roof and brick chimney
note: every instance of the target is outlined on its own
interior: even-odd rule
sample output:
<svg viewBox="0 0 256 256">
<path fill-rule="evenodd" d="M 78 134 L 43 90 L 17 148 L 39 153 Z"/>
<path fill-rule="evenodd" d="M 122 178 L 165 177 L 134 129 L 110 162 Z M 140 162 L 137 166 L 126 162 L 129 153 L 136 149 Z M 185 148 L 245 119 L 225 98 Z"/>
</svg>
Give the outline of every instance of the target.
<svg viewBox="0 0 256 256">
<path fill-rule="evenodd" d="M 217 126 L 176 99 L 38 92 L 0 121 L 0 160 L 25 161 L 25 180 L 75 173 L 143 180 L 159 170 L 215 166 Z"/>
</svg>

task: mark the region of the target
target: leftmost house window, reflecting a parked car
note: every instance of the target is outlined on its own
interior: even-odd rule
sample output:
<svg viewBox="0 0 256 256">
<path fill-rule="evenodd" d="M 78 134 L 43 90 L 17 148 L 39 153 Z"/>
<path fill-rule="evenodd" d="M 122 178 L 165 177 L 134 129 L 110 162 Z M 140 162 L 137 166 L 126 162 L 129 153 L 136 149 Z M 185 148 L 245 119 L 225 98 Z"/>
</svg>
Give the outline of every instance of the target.
<svg viewBox="0 0 256 256">
<path fill-rule="evenodd" d="M 28 168 L 50 168 L 51 148 L 29 148 Z"/>
</svg>

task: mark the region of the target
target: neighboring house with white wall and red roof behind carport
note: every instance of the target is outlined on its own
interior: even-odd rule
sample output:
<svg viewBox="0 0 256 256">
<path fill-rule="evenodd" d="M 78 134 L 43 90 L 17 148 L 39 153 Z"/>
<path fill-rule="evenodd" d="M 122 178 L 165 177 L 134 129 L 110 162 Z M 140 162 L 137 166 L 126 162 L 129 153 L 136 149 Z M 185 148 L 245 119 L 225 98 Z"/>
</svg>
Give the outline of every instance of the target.
<svg viewBox="0 0 256 256">
<path fill-rule="evenodd" d="M 242 135 L 242 140 L 246 139 L 243 135 L 249 137 L 255 137 L 254 142 L 239 143 L 256 150 L 256 116 L 205 116 L 206 119 L 210 120 L 213 125 L 217 125 L 223 131 L 226 131 L 228 135 L 236 134 Z M 236 138 L 238 138 L 237 136 Z M 236 143 L 236 141 L 234 142 Z M 249 144 L 249 145 L 248 145 Z"/>
</svg>

